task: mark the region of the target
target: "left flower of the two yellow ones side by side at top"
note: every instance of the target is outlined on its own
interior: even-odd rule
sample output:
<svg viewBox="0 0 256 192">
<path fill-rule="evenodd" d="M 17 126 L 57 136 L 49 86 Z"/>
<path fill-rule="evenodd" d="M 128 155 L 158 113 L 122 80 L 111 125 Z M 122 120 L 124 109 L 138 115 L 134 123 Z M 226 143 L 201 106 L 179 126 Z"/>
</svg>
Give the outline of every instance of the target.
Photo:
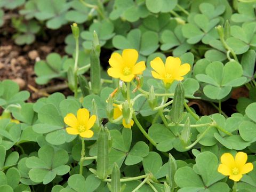
<svg viewBox="0 0 256 192">
<path fill-rule="evenodd" d="M 138 63 L 139 54 L 134 49 L 123 50 L 122 55 L 113 53 L 109 59 L 108 75 L 114 78 L 120 78 L 124 82 L 130 82 L 135 75 L 142 74 L 146 69 L 145 61 Z"/>
</svg>

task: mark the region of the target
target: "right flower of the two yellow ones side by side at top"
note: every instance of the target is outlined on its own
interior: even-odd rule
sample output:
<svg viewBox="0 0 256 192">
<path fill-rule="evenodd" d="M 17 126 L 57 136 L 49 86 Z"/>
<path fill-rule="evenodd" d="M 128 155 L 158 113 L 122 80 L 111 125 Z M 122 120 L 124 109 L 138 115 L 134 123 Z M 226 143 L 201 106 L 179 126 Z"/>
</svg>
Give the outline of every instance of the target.
<svg viewBox="0 0 256 192">
<path fill-rule="evenodd" d="M 171 84 L 174 80 L 182 81 L 184 75 L 190 71 L 190 65 L 185 63 L 180 65 L 180 58 L 167 57 L 165 65 L 161 58 L 157 57 L 150 62 L 151 67 L 155 71 L 151 71 L 152 76 L 163 80 L 164 84 Z"/>
</svg>

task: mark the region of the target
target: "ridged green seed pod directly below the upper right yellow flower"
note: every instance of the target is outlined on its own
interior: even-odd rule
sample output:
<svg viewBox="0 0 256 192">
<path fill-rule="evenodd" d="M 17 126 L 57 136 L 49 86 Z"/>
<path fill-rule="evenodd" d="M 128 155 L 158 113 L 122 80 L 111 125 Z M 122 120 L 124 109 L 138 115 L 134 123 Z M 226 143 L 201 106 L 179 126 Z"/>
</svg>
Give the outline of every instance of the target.
<svg viewBox="0 0 256 192">
<path fill-rule="evenodd" d="M 170 111 L 170 116 L 173 123 L 179 123 L 181 121 L 184 109 L 184 98 L 185 90 L 182 83 L 179 82 L 177 87 L 175 88 L 172 109 Z"/>
</svg>

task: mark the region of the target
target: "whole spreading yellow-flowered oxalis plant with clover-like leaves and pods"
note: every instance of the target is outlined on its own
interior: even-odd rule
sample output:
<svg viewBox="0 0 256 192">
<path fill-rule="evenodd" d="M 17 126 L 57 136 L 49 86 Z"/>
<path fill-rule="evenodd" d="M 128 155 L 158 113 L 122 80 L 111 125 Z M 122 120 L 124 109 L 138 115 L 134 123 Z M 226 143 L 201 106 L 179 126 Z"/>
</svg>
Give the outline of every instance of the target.
<svg viewBox="0 0 256 192">
<path fill-rule="evenodd" d="M 29 103 L 0 82 L 0 191 L 256 191 L 255 1 L 67 2 L 0 2 L 34 18 L 12 20 L 18 44 L 39 25 L 79 23 L 66 38 L 73 58 L 35 65 L 38 84 L 65 79 L 74 94 Z M 102 70 L 102 49 L 114 48 Z M 242 86 L 249 98 L 228 111 Z M 218 113 L 201 115 L 190 99 Z"/>
</svg>

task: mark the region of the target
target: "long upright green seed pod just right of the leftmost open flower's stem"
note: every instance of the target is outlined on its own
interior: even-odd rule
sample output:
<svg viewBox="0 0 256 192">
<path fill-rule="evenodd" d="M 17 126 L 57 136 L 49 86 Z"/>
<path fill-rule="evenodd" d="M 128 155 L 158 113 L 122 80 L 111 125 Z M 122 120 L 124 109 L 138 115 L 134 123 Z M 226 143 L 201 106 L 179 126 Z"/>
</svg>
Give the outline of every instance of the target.
<svg viewBox="0 0 256 192">
<path fill-rule="evenodd" d="M 101 127 L 98 138 L 97 175 L 100 179 L 108 176 L 108 134 L 105 127 Z"/>
</svg>

